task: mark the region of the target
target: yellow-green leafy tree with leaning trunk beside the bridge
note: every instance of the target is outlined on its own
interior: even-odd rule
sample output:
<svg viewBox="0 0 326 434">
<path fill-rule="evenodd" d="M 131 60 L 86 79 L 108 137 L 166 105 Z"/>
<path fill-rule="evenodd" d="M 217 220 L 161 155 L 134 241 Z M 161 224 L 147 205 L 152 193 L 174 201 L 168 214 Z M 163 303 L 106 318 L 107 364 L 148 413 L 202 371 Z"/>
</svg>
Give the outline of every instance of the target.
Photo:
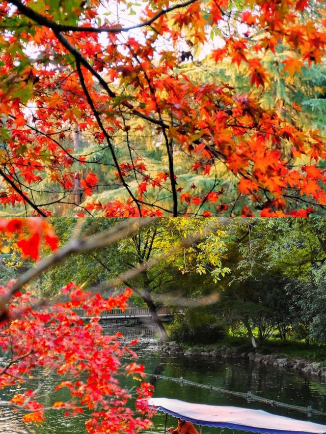
<svg viewBox="0 0 326 434">
<path fill-rule="evenodd" d="M 75 219 L 52 221 L 63 240 L 69 239 L 76 230 Z M 89 219 L 81 230 L 83 234 L 101 233 L 119 221 Z M 179 297 L 186 303 L 187 299 L 200 298 L 203 294 L 197 286 L 189 291 L 189 279 L 185 277 L 208 274 L 212 282 L 217 282 L 230 271 L 223 265 L 228 222 L 228 219 L 221 223 L 210 219 L 153 220 L 118 244 L 76 255 L 64 266 L 53 268 L 43 278 L 43 291 L 51 288 L 53 295 L 56 288 L 71 280 L 72 273 L 75 282 L 86 287 L 99 284 L 105 287 L 108 280 L 119 278 L 115 285 L 131 287 L 133 303 L 148 307 L 160 339 L 166 339 L 157 307 L 178 305 Z M 125 272 L 136 269 L 141 270 L 137 276 L 126 277 Z"/>
</svg>

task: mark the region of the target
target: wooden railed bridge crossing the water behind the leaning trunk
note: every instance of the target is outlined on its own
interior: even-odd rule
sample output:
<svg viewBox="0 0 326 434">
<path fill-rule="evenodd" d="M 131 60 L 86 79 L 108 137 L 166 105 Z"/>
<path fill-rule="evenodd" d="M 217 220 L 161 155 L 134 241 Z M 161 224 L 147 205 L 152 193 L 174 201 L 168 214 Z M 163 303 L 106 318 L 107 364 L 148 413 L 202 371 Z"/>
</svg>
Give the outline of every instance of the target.
<svg viewBox="0 0 326 434">
<path fill-rule="evenodd" d="M 82 320 L 90 319 L 90 316 L 85 315 L 85 310 L 83 309 L 75 309 L 77 315 L 80 316 Z M 168 321 L 171 319 L 171 311 L 169 307 L 159 307 L 156 309 L 157 315 L 161 318 L 162 321 Z M 111 310 L 103 310 L 100 314 L 101 320 L 103 321 L 128 321 L 128 320 L 137 320 L 137 321 L 146 321 L 151 320 L 151 314 L 149 309 L 146 307 L 127 307 L 127 309 L 111 309 Z"/>
</svg>

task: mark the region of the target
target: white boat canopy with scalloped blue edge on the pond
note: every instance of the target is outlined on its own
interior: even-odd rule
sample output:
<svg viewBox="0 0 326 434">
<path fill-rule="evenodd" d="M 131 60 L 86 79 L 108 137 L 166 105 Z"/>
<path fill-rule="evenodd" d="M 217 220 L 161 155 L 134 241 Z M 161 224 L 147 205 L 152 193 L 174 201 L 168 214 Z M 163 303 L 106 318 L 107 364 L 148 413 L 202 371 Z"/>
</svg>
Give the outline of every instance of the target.
<svg viewBox="0 0 326 434">
<path fill-rule="evenodd" d="M 240 407 L 208 406 L 170 398 L 150 398 L 152 408 L 202 426 L 260 434 L 326 434 L 326 425 Z"/>
</svg>

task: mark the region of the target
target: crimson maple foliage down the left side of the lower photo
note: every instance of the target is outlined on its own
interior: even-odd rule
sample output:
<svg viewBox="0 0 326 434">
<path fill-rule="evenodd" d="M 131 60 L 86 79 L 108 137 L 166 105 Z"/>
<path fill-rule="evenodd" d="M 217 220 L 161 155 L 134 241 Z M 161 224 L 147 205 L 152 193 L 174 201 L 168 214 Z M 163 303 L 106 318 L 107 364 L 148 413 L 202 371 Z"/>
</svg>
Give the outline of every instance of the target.
<svg viewBox="0 0 326 434">
<path fill-rule="evenodd" d="M 0 230 L 3 246 L 8 237 L 16 238 L 25 257 L 37 258 L 43 244 L 55 250 L 58 242 L 44 219 L 2 219 Z M 137 383 L 131 393 L 119 384 L 121 375 L 144 377 L 143 366 L 134 360 L 134 342 L 124 343 L 119 333 L 104 335 L 96 316 L 104 309 L 125 308 L 130 290 L 103 299 L 69 283 L 61 297 L 49 303 L 26 289 L 12 293 L 13 284 L 0 288 L 0 389 L 19 386 L 21 392 L 1 400 L 0 407 L 21 412 L 26 423 L 42 422 L 49 409 L 65 417 L 86 412 L 86 428 L 97 434 L 133 434 L 150 426 L 146 398 L 151 385 Z M 74 311 L 77 307 L 92 318 L 83 321 Z M 58 381 L 45 405 L 40 397 L 50 373 Z M 58 400 L 62 389 L 65 399 Z"/>
</svg>

